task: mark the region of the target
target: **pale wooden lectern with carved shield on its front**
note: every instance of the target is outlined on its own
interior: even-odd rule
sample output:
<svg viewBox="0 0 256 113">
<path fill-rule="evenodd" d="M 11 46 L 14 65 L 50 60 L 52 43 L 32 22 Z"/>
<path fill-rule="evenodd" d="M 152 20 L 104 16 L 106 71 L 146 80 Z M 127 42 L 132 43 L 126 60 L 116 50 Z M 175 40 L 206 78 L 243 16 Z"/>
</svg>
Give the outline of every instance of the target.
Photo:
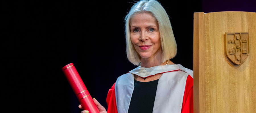
<svg viewBox="0 0 256 113">
<path fill-rule="evenodd" d="M 194 13 L 194 113 L 256 112 L 256 13 Z"/>
</svg>

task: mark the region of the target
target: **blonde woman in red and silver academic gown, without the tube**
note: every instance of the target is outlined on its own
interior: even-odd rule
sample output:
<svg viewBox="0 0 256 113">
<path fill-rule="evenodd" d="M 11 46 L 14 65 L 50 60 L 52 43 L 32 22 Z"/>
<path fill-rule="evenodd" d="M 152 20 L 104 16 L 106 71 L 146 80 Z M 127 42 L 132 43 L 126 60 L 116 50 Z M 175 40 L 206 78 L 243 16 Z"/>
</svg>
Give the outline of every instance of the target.
<svg viewBox="0 0 256 113">
<path fill-rule="evenodd" d="M 193 112 L 193 71 L 169 60 L 177 45 L 164 8 L 155 0 L 142 0 L 125 20 L 127 58 L 138 67 L 109 90 L 108 113 Z M 107 112 L 93 100 L 101 113 Z"/>
</svg>

